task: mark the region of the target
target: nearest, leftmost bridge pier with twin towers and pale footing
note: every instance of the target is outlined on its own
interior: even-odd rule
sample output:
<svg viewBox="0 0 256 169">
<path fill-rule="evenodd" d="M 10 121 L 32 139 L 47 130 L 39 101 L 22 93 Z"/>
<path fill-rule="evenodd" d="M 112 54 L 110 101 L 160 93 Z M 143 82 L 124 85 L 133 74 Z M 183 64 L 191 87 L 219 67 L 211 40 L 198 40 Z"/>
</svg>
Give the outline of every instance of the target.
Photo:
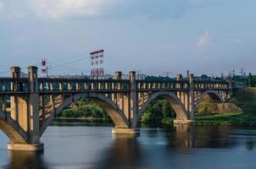
<svg viewBox="0 0 256 169">
<path fill-rule="evenodd" d="M 11 68 L 11 76 L 19 79 L 20 68 Z M 37 89 L 37 68 L 28 67 L 28 90 L 29 95 L 14 95 L 10 100 L 10 115 L 14 123 L 18 125 L 18 133 L 21 133 L 22 139 L 11 139 L 8 144 L 8 150 L 19 151 L 41 151 L 43 144 L 40 143 L 40 123 L 39 123 L 39 95 Z M 23 86 L 14 82 L 11 84 L 11 90 L 23 90 Z M 10 135 L 14 135 L 13 130 L 8 130 Z"/>
</svg>

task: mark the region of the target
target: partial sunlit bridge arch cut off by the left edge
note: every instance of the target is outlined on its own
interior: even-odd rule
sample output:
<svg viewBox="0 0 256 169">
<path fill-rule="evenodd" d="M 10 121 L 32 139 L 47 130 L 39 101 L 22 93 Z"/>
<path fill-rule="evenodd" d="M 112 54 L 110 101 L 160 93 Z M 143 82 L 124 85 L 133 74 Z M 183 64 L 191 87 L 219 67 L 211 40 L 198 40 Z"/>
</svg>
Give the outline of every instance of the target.
<svg viewBox="0 0 256 169">
<path fill-rule="evenodd" d="M 8 114 L 3 113 L 2 110 L 0 110 L 0 128 L 8 136 L 11 143 L 26 144 L 28 136 L 25 131 Z"/>
</svg>

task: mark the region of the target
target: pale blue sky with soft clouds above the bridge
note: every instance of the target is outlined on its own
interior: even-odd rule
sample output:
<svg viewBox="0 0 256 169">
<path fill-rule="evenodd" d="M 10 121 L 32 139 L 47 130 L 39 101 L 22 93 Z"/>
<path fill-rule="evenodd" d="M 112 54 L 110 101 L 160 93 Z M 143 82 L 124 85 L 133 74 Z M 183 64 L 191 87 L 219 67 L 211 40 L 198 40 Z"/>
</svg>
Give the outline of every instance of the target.
<svg viewBox="0 0 256 169">
<path fill-rule="evenodd" d="M 47 58 L 49 74 L 256 74 L 255 0 L 0 0 L 0 76 Z"/>
</svg>

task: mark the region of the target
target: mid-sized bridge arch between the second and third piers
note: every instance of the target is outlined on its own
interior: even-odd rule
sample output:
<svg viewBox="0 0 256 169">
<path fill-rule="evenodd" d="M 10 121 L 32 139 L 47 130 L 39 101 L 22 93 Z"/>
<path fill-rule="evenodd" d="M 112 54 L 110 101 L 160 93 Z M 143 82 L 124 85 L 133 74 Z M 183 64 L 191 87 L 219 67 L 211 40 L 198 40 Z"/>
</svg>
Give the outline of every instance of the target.
<svg viewBox="0 0 256 169">
<path fill-rule="evenodd" d="M 149 96 L 149 99 L 142 105 L 142 108 L 139 109 L 138 116 L 142 116 L 142 112 L 145 111 L 147 105 L 151 102 L 154 101 L 157 97 L 164 97 L 167 101 L 169 101 L 170 106 L 175 111 L 176 114 L 176 119 L 177 120 L 188 120 L 189 119 L 189 114 L 186 112 L 185 106 L 181 103 L 179 98 L 175 95 L 175 93 L 170 92 L 170 91 L 159 91 L 156 93 L 153 93 L 152 95 Z"/>
</svg>

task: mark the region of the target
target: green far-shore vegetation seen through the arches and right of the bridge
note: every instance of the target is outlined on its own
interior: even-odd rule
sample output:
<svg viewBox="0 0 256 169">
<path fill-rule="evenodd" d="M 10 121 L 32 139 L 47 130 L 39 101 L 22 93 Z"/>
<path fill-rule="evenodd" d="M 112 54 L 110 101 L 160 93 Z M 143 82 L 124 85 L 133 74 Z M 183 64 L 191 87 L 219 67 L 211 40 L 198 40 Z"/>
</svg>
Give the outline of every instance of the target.
<svg viewBox="0 0 256 169">
<path fill-rule="evenodd" d="M 81 98 L 55 119 L 85 121 L 110 121 L 109 115 L 93 101 Z M 168 101 L 159 97 L 142 113 L 141 123 L 173 123 L 175 112 Z M 214 103 L 209 95 L 200 102 L 195 121 L 190 125 L 256 126 L 256 88 L 236 89 L 231 100 Z"/>
</svg>

